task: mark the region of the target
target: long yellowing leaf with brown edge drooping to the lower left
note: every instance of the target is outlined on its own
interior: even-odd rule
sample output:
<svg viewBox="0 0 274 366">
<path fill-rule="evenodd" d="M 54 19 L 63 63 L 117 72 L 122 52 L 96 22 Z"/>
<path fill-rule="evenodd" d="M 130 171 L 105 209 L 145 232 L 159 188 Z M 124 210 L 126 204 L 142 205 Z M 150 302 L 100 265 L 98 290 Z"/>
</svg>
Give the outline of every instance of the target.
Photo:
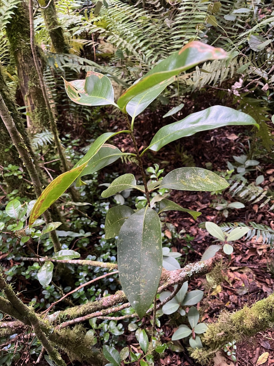
<svg viewBox="0 0 274 366">
<path fill-rule="evenodd" d="M 118 132 L 119 133 L 119 132 Z M 81 174 L 88 161 L 94 157 L 99 151 L 100 147 L 110 137 L 116 135 L 111 132 L 106 132 L 99 136 L 94 143 L 91 145 L 88 152 L 83 156 L 78 163 L 68 172 L 65 172 L 55 178 L 46 189 L 39 196 L 35 202 L 33 209 L 31 210 L 29 225 L 31 226 L 38 217 L 46 211 L 60 196 L 65 192 L 66 189 L 75 181 L 76 178 Z"/>
</svg>

